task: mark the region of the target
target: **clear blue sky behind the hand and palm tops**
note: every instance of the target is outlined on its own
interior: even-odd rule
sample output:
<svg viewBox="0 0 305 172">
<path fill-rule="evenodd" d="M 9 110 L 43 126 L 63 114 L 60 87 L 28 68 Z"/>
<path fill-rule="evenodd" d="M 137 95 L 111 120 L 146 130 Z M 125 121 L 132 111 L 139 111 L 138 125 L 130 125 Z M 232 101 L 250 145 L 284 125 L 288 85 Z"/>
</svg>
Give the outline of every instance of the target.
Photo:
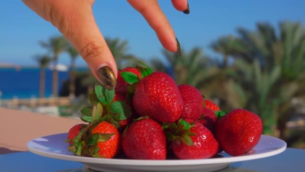
<svg viewBox="0 0 305 172">
<path fill-rule="evenodd" d="M 255 29 L 256 22 L 300 21 L 305 24 L 305 1 L 199 1 L 189 0 L 189 15 L 174 9 L 171 1 L 159 1 L 181 47 L 204 48 L 207 55 L 216 54 L 209 44 L 223 35 L 235 34 L 237 27 Z M 93 6 L 96 22 L 105 37 L 129 42 L 129 52 L 144 59 L 162 58 L 163 47 L 143 17 L 124 0 L 96 1 Z M 22 1 L 6 1 L 0 6 L 0 64 L 36 65 L 35 54 L 46 51 L 38 44 L 60 33 L 36 15 Z M 60 62 L 69 64 L 67 54 Z M 79 58 L 78 65 L 86 65 Z"/>
</svg>

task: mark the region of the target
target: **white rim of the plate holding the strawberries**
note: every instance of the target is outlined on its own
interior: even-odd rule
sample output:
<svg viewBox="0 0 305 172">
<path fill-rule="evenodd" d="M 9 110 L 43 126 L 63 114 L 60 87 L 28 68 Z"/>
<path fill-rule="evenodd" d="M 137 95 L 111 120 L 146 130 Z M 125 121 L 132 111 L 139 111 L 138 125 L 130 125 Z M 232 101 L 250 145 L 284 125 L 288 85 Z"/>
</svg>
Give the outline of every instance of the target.
<svg viewBox="0 0 305 172">
<path fill-rule="evenodd" d="M 67 133 L 58 133 L 52 134 L 47 136 L 55 136 Z M 42 137 L 47 137 L 42 136 Z M 264 153 L 252 154 L 252 155 L 240 155 L 240 156 L 230 156 L 230 157 L 220 157 L 220 158 L 206 158 L 206 159 L 166 159 L 166 160 L 145 160 L 145 159 L 122 159 L 122 158 L 94 158 L 94 157 L 83 157 L 83 156 L 75 156 L 75 155 L 65 155 L 60 153 L 52 153 L 46 152 L 39 149 L 35 149 L 31 146 L 33 140 L 41 138 L 34 138 L 27 143 L 28 150 L 32 153 L 46 156 L 50 158 L 62 159 L 62 160 L 69 160 L 69 161 L 77 161 L 81 163 L 90 163 L 90 164 L 108 164 L 108 165 L 141 165 L 141 166 L 172 166 L 172 165 L 203 165 L 203 164 L 220 164 L 220 163 L 233 163 L 239 161 L 246 161 L 258 158 L 264 158 L 279 154 L 285 151 L 287 147 L 287 143 L 281 139 L 276 137 L 261 135 L 261 138 L 271 138 L 277 140 L 283 144 L 283 146 L 271 150 Z M 260 138 L 260 139 L 261 139 Z"/>
</svg>

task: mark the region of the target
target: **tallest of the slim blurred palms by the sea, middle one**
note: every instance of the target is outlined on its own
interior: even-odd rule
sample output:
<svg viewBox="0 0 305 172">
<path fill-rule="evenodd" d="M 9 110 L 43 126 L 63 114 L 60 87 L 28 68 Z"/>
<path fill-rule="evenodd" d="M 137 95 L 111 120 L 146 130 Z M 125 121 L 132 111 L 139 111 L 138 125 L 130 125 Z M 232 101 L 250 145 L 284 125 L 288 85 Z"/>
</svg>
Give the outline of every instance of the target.
<svg viewBox="0 0 305 172">
<path fill-rule="evenodd" d="M 58 96 L 58 71 L 57 64 L 59 55 L 66 50 L 67 40 L 63 36 L 51 37 L 48 42 L 40 41 L 40 45 L 52 53 L 53 60 L 53 79 L 52 79 L 52 94 L 53 97 Z"/>
</svg>

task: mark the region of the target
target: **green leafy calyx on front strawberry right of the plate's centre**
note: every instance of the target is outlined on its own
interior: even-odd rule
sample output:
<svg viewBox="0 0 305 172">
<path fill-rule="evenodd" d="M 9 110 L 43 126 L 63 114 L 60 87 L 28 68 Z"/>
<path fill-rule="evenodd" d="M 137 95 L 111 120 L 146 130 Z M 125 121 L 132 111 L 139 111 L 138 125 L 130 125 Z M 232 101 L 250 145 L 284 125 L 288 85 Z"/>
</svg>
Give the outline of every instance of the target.
<svg viewBox="0 0 305 172">
<path fill-rule="evenodd" d="M 181 141 L 189 146 L 193 146 L 194 142 L 190 136 L 195 136 L 190 129 L 195 125 L 194 122 L 187 122 L 180 119 L 177 123 L 163 123 L 162 128 L 165 131 L 166 138 L 169 141 L 176 141 L 181 145 Z"/>
</svg>

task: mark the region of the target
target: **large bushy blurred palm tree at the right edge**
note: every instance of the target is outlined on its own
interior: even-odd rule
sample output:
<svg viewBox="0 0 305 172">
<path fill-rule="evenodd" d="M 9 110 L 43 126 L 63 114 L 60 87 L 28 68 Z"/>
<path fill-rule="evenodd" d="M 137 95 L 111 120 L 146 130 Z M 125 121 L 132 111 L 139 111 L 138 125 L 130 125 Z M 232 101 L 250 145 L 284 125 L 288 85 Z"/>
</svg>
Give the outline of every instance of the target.
<svg viewBox="0 0 305 172">
<path fill-rule="evenodd" d="M 243 95 L 240 105 L 263 118 L 265 133 L 277 131 L 284 139 L 291 100 L 305 94 L 305 29 L 300 23 L 282 22 L 276 34 L 271 25 L 258 23 L 257 31 L 239 28 L 238 33 L 236 39 L 246 48 L 228 53 L 235 58 L 231 91 Z"/>
</svg>

